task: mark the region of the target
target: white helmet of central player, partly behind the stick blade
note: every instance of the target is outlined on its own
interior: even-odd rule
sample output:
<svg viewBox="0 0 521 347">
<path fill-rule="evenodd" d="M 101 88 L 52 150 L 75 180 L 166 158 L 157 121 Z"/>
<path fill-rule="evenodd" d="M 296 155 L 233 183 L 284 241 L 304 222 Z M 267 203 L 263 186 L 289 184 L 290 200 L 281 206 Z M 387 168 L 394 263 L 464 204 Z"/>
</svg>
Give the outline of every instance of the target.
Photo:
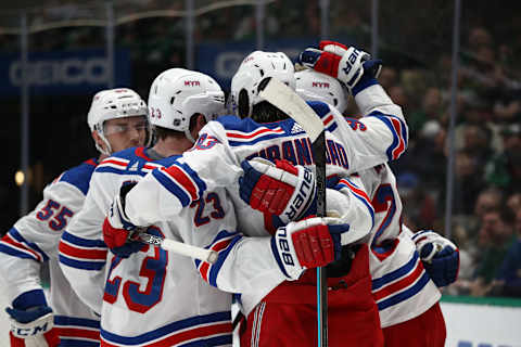
<svg viewBox="0 0 521 347">
<path fill-rule="evenodd" d="M 275 77 L 295 89 L 294 72 L 293 63 L 282 52 L 250 53 L 231 79 L 232 111 L 240 117 L 250 117 L 253 105 L 264 101 L 257 87 L 266 77 Z"/>
</svg>

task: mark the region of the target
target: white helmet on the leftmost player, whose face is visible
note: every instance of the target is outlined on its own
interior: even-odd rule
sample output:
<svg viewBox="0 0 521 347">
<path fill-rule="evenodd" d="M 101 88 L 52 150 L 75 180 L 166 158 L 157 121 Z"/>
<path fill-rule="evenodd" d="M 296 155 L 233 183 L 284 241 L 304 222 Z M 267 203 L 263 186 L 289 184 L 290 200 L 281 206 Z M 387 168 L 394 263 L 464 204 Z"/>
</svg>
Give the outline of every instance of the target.
<svg viewBox="0 0 521 347">
<path fill-rule="evenodd" d="M 144 116 L 148 118 L 148 110 L 144 101 L 137 92 L 128 88 L 115 88 L 99 91 L 92 98 L 87 123 L 90 131 L 97 131 L 106 145 L 103 150 L 96 143 L 96 147 L 103 154 L 111 155 L 111 144 L 104 134 L 103 124 L 109 119 L 126 118 L 134 116 Z M 148 121 L 148 119 L 147 119 Z M 151 140 L 150 129 L 148 131 L 147 144 Z"/>
</svg>

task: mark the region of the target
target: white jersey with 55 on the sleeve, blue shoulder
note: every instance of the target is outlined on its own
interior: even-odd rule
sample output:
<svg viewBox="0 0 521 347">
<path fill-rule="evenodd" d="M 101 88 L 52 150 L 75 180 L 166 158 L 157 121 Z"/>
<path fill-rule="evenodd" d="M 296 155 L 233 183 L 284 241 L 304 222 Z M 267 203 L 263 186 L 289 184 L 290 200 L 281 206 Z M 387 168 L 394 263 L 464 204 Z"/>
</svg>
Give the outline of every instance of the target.
<svg viewBox="0 0 521 347">
<path fill-rule="evenodd" d="M 58 245 L 73 216 L 84 206 L 98 163 L 87 160 L 59 176 L 43 190 L 43 200 L 21 218 L 0 242 L 0 272 L 9 300 L 41 290 L 40 267 L 49 261 L 53 309 L 60 346 L 99 346 L 99 318 L 74 293 L 58 266 Z"/>
</svg>

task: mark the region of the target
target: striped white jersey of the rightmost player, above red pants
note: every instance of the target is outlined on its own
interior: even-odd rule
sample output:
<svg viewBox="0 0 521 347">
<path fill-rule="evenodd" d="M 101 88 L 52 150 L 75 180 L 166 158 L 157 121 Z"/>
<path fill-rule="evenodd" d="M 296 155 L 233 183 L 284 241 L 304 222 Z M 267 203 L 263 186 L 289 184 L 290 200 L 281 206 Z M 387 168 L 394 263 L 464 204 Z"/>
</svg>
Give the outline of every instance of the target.
<svg viewBox="0 0 521 347">
<path fill-rule="evenodd" d="M 425 312 L 441 293 L 423 269 L 411 232 L 403 230 L 403 206 L 391 168 L 383 164 L 359 176 L 374 208 L 369 265 L 372 295 L 386 327 Z"/>
</svg>

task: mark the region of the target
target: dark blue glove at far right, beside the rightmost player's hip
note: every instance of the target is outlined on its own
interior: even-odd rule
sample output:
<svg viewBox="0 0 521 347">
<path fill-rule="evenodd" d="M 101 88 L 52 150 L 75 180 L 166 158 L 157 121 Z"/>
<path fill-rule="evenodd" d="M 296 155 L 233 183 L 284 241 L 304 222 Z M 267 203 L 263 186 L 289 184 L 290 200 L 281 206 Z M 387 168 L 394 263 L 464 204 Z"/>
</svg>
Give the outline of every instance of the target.
<svg viewBox="0 0 521 347">
<path fill-rule="evenodd" d="M 458 279 L 459 250 L 454 243 L 432 230 L 417 232 L 412 241 L 436 286 L 447 286 Z"/>
</svg>

